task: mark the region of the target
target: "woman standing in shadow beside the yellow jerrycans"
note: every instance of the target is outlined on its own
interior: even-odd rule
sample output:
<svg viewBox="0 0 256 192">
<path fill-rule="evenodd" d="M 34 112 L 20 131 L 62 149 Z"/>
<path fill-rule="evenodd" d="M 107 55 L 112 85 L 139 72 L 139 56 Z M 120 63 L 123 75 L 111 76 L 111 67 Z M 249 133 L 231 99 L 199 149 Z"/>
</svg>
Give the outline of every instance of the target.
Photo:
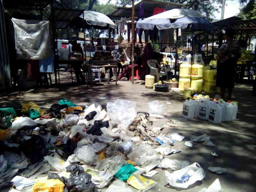
<svg viewBox="0 0 256 192">
<path fill-rule="evenodd" d="M 226 41 L 220 46 L 217 56 L 216 86 L 220 87 L 220 96 L 224 99 L 225 89 L 228 90 L 227 100 L 231 100 L 234 87 L 235 66 L 237 59 L 241 57 L 239 43 L 233 40 L 233 29 L 225 30 Z"/>
</svg>

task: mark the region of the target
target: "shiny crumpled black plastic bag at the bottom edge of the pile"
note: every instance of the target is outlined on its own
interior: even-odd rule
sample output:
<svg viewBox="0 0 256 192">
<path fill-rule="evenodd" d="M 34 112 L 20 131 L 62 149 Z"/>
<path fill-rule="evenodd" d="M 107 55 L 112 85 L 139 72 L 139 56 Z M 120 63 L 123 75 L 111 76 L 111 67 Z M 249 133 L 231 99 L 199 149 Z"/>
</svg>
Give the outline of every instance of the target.
<svg viewBox="0 0 256 192">
<path fill-rule="evenodd" d="M 71 172 L 67 179 L 67 190 L 69 192 L 93 191 L 95 184 L 91 182 L 91 175 L 84 172 L 78 164 L 71 164 L 66 167 L 67 172 Z"/>
</svg>

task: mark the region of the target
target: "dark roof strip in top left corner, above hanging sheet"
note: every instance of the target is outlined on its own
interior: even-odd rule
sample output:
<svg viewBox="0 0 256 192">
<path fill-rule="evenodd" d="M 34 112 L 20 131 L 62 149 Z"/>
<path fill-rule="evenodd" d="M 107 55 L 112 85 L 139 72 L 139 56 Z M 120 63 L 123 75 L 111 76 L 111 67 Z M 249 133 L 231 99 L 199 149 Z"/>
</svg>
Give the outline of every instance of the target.
<svg viewBox="0 0 256 192">
<path fill-rule="evenodd" d="M 52 0 L 3 0 L 4 8 L 40 10 Z"/>
</svg>

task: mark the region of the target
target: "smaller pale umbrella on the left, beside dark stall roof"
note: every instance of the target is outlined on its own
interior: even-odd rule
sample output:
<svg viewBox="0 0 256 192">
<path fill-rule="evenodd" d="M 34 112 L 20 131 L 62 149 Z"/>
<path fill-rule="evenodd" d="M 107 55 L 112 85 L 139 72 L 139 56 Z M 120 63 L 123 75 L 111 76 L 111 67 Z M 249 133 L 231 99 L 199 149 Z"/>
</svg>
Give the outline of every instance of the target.
<svg viewBox="0 0 256 192">
<path fill-rule="evenodd" d="M 109 26 L 110 28 L 113 28 L 115 26 L 114 22 L 105 14 L 92 11 L 92 10 L 85 10 L 83 14 L 81 14 L 79 17 L 83 18 L 89 25 L 97 25 L 97 26 Z"/>
</svg>

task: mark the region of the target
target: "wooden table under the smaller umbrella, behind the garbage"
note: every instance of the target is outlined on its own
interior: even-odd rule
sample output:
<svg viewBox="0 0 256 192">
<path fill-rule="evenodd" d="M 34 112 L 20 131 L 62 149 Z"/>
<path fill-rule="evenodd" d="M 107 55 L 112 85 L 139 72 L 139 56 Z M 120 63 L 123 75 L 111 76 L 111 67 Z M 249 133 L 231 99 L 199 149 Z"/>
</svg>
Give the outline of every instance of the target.
<svg viewBox="0 0 256 192">
<path fill-rule="evenodd" d="M 94 62 L 95 64 L 89 65 L 90 68 L 102 68 L 102 67 L 114 67 L 115 68 L 115 84 L 117 84 L 117 61 L 116 60 L 90 60 L 88 62 Z M 110 64 L 111 63 L 111 64 Z M 108 70 L 108 83 L 110 80 L 109 70 Z"/>
</svg>

